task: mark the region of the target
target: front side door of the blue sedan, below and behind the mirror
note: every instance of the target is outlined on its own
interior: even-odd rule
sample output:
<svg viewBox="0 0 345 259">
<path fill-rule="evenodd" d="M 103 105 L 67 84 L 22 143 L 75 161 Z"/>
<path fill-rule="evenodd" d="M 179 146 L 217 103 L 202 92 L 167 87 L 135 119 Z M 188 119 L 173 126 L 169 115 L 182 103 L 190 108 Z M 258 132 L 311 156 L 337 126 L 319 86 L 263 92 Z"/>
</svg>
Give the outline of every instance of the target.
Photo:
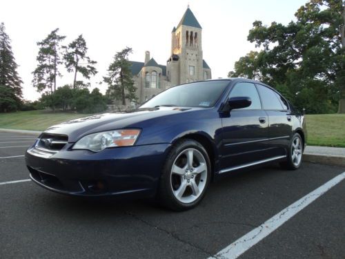
<svg viewBox="0 0 345 259">
<path fill-rule="evenodd" d="M 268 115 L 262 109 L 255 84 L 239 82 L 230 97 L 250 97 L 249 107 L 230 111 L 222 120 L 221 173 L 264 160 L 268 140 Z M 228 101 L 226 101 L 228 102 Z"/>
</svg>

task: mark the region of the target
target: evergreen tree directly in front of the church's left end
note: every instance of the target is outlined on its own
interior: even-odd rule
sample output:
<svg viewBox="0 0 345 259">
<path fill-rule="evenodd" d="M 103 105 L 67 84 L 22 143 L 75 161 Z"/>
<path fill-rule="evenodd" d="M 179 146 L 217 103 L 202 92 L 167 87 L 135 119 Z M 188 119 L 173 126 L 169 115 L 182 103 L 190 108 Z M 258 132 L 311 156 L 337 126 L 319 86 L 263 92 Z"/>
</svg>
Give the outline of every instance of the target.
<svg viewBox="0 0 345 259">
<path fill-rule="evenodd" d="M 117 52 L 114 61 L 109 65 L 108 76 L 103 77 L 103 81 L 108 84 L 107 94 L 119 99 L 122 105 L 126 105 L 126 99 L 136 100 L 134 81 L 128 55 L 132 53 L 132 48 L 124 48 Z"/>
</svg>

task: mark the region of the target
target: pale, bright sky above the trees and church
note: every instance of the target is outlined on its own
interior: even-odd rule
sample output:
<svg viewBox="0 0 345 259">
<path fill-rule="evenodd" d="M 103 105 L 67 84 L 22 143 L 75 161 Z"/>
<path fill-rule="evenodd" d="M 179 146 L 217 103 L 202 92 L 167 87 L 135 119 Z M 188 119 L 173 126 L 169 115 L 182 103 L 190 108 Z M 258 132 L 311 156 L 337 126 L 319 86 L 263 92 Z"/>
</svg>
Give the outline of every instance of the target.
<svg viewBox="0 0 345 259">
<path fill-rule="evenodd" d="M 166 65 L 170 55 L 171 30 L 177 26 L 189 4 L 202 27 L 204 59 L 212 77 L 227 77 L 235 61 L 255 50 L 247 41 L 253 21 L 269 25 L 295 21 L 295 12 L 306 0 L 0 0 L 0 22 L 12 40 L 14 58 L 23 79 L 24 99 L 40 97 L 32 87 L 32 71 L 37 66 L 37 41 L 55 28 L 66 35 L 68 45 L 83 35 L 88 55 L 97 61 L 99 73 L 90 81 L 90 89 L 107 86 L 99 81 L 115 53 L 126 46 L 133 49 L 129 59 L 144 61 L 145 51 L 158 64 Z M 61 67 L 63 77 L 57 86 L 72 84 L 72 73 Z M 81 76 L 77 79 L 81 79 Z"/>
</svg>

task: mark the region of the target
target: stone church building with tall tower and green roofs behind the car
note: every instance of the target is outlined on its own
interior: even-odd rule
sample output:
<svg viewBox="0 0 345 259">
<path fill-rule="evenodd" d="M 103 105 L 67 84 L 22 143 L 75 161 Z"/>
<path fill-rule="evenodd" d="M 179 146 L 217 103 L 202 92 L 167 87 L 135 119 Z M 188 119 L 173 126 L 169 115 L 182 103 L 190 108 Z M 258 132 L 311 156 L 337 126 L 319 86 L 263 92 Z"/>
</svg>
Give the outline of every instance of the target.
<svg viewBox="0 0 345 259">
<path fill-rule="evenodd" d="M 171 52 L 165 65 L 159 65 L 146 51 L 145 61 L 130 61 L 139 104 L 171 86 L 211 78 L 203 59 L 202 28 L 188 7 L 171 32 Z"/>
</svg>

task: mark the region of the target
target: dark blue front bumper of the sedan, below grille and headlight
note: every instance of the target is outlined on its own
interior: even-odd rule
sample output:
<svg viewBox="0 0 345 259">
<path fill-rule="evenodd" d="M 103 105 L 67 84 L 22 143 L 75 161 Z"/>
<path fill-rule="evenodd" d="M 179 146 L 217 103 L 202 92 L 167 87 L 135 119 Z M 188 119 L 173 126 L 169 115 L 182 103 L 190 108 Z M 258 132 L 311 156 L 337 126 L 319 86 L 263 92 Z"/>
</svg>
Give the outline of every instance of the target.
<svg viewBox="0 0 345 259">
<path fill-rule="evenodd" d="M 99 153 L 71 150 L 50 157 L 26 151 L 30 178 L 50 191 L 81 196 L 155 195 L 170 144 L 106 148 Z"/>
</svg>

